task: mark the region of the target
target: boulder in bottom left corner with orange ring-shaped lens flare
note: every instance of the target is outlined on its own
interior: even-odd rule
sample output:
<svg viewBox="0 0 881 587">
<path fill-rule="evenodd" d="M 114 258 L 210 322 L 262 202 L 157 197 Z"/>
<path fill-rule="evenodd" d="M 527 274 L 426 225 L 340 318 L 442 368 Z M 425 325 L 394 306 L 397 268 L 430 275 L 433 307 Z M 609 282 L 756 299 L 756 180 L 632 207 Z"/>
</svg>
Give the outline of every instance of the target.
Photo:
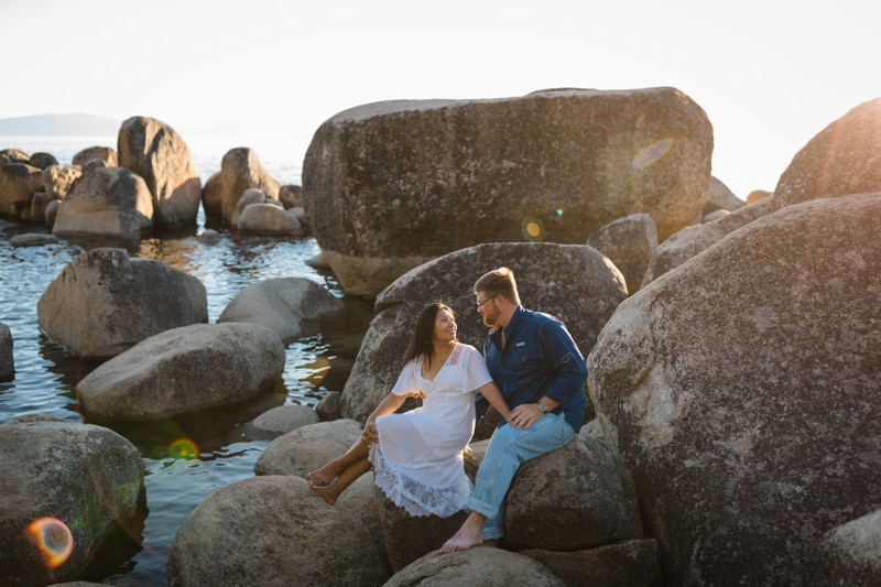
<svg viewBox="0 0 881 587">
<path fill-rule="evenodd" d="M 0 470 L 2 585 L 73 579 L 117 526 L 141 534 L 143 460 L 108 428 L 21 416 L 0 426 Z"/>
</svg>

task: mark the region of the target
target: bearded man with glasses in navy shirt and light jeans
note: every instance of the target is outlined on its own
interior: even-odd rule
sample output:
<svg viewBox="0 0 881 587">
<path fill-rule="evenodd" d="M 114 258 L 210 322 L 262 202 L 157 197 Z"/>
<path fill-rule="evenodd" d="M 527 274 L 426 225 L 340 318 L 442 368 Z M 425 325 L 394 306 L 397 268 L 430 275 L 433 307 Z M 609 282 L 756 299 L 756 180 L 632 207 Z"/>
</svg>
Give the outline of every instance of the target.
<svg viewBox="0 0 881 587">
<path fill-rule="evenodd" d="M 490 327 L 483 357 L 511 414 L 499 422 L 477 472 L 471 513 L 442 553 L 494 546 L 504 534 L 504 497 L 520 465 L 566 445 L 585 417 L 587 366 L 563 323 L 521 306 L 508 268 L 477 280 L 475 297 Z"/>
</svg>

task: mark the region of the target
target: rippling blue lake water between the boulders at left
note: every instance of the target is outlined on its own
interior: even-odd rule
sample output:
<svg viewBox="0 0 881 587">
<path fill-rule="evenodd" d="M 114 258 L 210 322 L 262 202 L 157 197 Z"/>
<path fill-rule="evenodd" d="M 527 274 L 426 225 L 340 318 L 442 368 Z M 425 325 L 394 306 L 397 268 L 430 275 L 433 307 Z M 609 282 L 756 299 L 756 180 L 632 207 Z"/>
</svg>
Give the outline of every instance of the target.
<svg viewBox="0 0 881 587">
<path fill-rule="evenodd" d="M 216 139 L 187 141 L 199 175 L 205 181 L 220 169 L 229 149 Z M 31 154 L 52 153 L 69 164 L 73 155 L 93 145 L 116 146 L 116 138 L 0 137 L 0 149 L 14 146 Z M 261 154 L 263 166 L 283 184 L 300 183 L 298 162 L 283 153 Z M 250 439 L 246 424 L 261 412 L 284 404 L 315 405 L 327 391 L 341 391 L 363 334 L 372 318 L 372 304 L 346 296 L 331 273 L 308 261 L 319 252 L 315 239 L 240 236 L 219 230 L 221 239 L 206 244 L 197 226 L 182 232 L 145 236 L 129 249 L 133 257 L 162 261 L 202 280 L 208 294 L 208 319 L 215 323 L 226 305 L 246 285 L 273 278 L 300 276 L 323 284 L 341 298 L 341 317 L 319 324 L 319 334 L 291 344 L 285 370 L 275 389 L 248 406 L 151 424 L 112 425 L 140 450 L 146 468 L 148 514 L 142 536 L 118 536 L 86 579 L 119 585 L 166 585 L 168 548 L 177 528 L 208 496 L 233 481 L 253 476 L 253 466 L 269 444 Z M 99 362 L 78 360 L 40 333 L 36 303 L 48 284 L 77 254 L 100 242 L 15 248 L 10 238 L 43 231 L 37 225 L 15 225 L 0 219 L 0 322 L 12 331 L 15 377 L 0 382 L 0 424 L 31 413 L 47 413 L 73 422 L 88 422 L 77 409 L 74 387 Z M 173 445 L 186 439 L 197 456 L 180 456 Z M 295 545 L 292 545 L 295 547 Z"/>
</svg>

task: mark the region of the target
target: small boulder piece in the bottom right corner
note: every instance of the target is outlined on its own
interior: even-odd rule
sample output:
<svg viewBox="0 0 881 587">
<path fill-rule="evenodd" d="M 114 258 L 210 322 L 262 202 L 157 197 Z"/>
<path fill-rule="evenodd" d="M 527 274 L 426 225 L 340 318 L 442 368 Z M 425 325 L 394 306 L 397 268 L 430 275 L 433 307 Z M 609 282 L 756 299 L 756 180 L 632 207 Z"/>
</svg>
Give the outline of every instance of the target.
<svg viewBox="0 0 881 587">
<path fill-rule="evenodd" d="M 817 548 L 818 585 L 878 585 L 881 579 L 881 510 L 828 531 Z"/>
</svg>

